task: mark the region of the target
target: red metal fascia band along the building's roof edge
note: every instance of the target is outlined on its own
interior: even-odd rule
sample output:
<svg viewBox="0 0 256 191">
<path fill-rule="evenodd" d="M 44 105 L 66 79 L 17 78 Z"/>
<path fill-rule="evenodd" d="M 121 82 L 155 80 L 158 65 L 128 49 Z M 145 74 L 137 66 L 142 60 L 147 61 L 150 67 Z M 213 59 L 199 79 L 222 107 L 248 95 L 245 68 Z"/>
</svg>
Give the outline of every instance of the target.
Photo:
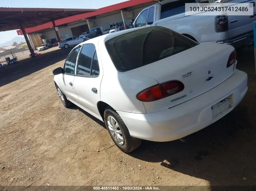
<svg viewBox="0 0 256 191">
<path fill-rule="evenodd" d="M 140 4 L 148 3 L 148 2 L 152 2 L 152 1 L 154 1 L 154 0 L 129 0 L 129 1 L 125 1 L 125 2 L 115 4 L 115 5 L 110 5 L 110 6 L 107 6 L 107 7 L 99 8 L 97 11 L 88 12 L 88 13 L 84 13 L 84 14 L 78 14 L 78 15 L 67 17 L 67 18 L 58 19 L 58 20 L 55 20 L 55 24 L 56 24 L 56 26 L 59 26 L 59 25 L 62 25 L 62 24 L 66 24 L 66 23 L 70 23 L 70 22 L 74 22 L 74 21 L 79 21 L 81 19 L 94 17 L 96 15 L 109 13 L 111 11 L 117 11 L 117 10 L 125 9 L 125 8 L 128 8 L 128 7 L 132 7 L 132 6 L 135 6 L 135 5 L 140 5 Z M 26 30 L 27 33 L 33 33 L 33 32 L 40 31 L 40 30 L 43 30 L 43 29 L 47 29 L 47 28 L 50 28 L 50 27 L 53 27 L 52 22 L 48 22 L 48 23 L 45 23 L 43 25 L 39 25 L 37 27 L 32 27 L 32 28 L 25 27 L 25 30 Z M 19 35 L 21 35 L 22 31 L 18 30 L 17 33 Z"/>
</svg>

